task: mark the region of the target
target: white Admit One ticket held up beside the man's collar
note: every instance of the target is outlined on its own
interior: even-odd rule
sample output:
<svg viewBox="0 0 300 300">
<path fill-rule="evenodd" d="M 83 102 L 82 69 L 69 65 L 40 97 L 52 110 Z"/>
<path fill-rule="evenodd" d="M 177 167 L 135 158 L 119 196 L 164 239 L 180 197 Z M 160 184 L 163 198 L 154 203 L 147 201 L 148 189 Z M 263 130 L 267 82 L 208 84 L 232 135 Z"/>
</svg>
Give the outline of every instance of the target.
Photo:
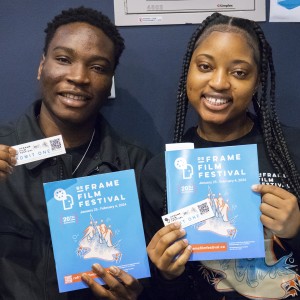
<svg viewBox="0 0 300 300">
<path fill-rule="evenodd" d="M 61 135 L 12 146 L 17 150 L 16 166 L 66 153 Z"/>
</svg>

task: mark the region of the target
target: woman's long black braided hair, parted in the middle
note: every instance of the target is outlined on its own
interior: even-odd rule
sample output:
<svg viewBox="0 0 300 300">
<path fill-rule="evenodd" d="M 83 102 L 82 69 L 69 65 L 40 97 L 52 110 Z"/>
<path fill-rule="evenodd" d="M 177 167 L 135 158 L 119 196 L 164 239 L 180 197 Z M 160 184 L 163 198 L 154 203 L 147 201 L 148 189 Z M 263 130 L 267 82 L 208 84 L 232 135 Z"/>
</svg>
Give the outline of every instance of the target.
<svg viewBox="0 0 300 300">
<path fill-rule="evenodd" d="M 213 26 L 227 28 L 226 31 L 229 32 L 232 29 L 232 31 L 238 30 L 239 32 L 244 33 L 246 38 L 250 38 L 250 43 L 253 45 L 253 48 L 257 49 L 259 52 L 257 64 L 260 73 L 259 79 L 261 87 L 259 93 L 256 92 L 252 98 L 253 107 L 258 117 L 266 151 L 272 165 L 280 174 L 286 175 L 282 178 L 283 182 L 288 186 L 290 192 L 300 199 L 299 173 L 289 154 L 275 110 L 275 70 L 272 49 L 267 42 L 261 27 L 253 21 L 214 13 L 206 18 L 193 33 L 183 59 L 182 74 L 178 86 L 173 142 L 180 143 L 184 134 L 185 119 L 188 109 L 186 82 L 195 45 L 197 46 L 199 38 L 203 37 L 209 28 L 212 28 Z M 269 83 L 270 86 L 268 86 Z"/>
</svg>

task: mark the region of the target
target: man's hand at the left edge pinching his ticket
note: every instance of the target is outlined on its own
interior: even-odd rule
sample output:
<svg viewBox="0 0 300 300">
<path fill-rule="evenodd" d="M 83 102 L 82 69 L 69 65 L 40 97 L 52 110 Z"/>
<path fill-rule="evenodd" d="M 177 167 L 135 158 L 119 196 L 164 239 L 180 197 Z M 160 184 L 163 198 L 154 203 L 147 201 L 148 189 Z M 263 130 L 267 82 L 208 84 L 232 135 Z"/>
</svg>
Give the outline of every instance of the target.
<svg viewBox="0 0 300 300">
<path fill-rule="evenodd" d="M 16 164 L 16 150 L 10 146 L 0 145 L 0 180 L 5 180 L 12 174 Z"/>
</svg>

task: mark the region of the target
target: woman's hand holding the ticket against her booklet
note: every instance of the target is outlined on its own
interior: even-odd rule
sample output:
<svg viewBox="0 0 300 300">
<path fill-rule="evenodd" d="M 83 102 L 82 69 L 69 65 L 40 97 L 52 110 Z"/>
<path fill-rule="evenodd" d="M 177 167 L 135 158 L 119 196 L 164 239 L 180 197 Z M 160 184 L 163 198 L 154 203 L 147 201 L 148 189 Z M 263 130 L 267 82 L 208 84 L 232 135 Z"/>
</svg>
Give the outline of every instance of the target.
<svg viewBox="0 0 300 300">
<path fill-rule="evenodd" d="M 148 256 L 166 279 L 180 276 L 185 269 L 192 247 L 186 239 L 180 223 L 161 228 L 147 247 Z"/>
</svg>

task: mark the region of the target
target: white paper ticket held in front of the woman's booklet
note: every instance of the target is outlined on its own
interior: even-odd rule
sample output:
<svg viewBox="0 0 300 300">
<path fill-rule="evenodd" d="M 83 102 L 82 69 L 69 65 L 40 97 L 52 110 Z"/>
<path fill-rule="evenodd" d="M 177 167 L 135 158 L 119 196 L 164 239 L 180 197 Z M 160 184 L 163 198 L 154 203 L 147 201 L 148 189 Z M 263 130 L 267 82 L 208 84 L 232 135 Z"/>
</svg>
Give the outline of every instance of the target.
<svg viewBox="0 0 300 300">
<path fill-rule="evenodd" d="M 214 217 L 214 212 L 210 200 L 205 199 L 166 214 L 162 216 L 162 220 L 165 226 L 174 222 L 180 222 L 181 227 L 185 228 L 212 217 Z"/>
</svg>

